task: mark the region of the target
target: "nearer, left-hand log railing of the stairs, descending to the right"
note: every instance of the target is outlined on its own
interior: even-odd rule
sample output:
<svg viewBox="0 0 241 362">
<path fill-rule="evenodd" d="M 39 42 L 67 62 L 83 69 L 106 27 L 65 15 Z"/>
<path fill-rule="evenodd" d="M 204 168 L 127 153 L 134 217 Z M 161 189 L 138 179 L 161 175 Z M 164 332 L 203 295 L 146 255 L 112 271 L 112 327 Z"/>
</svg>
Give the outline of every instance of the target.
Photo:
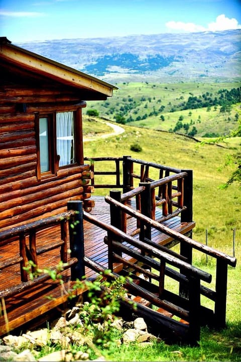
<svg viewBox="0 0 241 362">
<path fill-rule="evenodd" d="M 115 201 L 113 200 L 113 202 Z M 128 206 L 123 206 L 125 209 L 128 208 Z M 135 211 L 132 211 L 135 214 Z M 186 338 L 186 341 L 195 344 L 200 337 L 201 314 L 207 313 L 206 309 L 201 308 L 200 305 L 200 280 L 210 283 L 211 275 L 190 265 L 184 258 L 173 251 L 141 242 L 122 230 L 118 230 L 116 227 L 100 221 L 91 214 L 84 212 L 83 218 L 107 231 L 104 242 L 108 245 L 108 269 L 113 271 L 115 263 L 122 263 L 124 267 L 119 274 L 138 280 L 137 285 L 137 283 L 127 279 L 125 286 L 128 292 L 145 298 L 145 300 L 150 301 L 156 307 L 163 308 L 169 313 L 173 313 L 187 321 L 188 325 L 183 325 L 171 319 L 168 322 L 168 318 L 165 319 L 164 317 L 159 322 L 166 323 L 165 327 L 169 328 L 170 334 L 174 335 L 180 332 L 184 340 Z M 156 223 L 156 221 L 153 222 Z M 150 255 L 152 255 L 152 258 Z M 106 268 L 90 258 L 84 257 L 83 263 L 98 273 L 105 272 L 104 275 L 108 277 Z M 144 265 L 145 269 L 143 268 Z M 181 268 L 185 270 L 185 275 L 177 271 Z M 135 272 L 143 273 L 149 278 L 149 281 L 139 279 Z M 165 278 L 167 276 L 187 286 L 189 291 L 188 299 L 165 288 Z M 110 277 L 115 278 L 118 275 L 112 273 Z M 152 281 L 155 282 L 153 283 Z M 139 307 L 142 308 L 142 306 Z M 130 304 L 129 308 L 132 308 L 132 304 Z M 135 310 L 135 313 L 138 313 L 138 310 Z M 150 316 L 154 318 L 152 322 L 156 323 L 155 327 L 158 331 L 158 327 L 161 324 L 157 323 L 155 312 L 149 309 L 147 314 L 149 319 L 151 318 Z M 167 332 L 166 329 L 165 331 Z M 181 339 L 180 335 L 179 338 Z"/>
</svg>

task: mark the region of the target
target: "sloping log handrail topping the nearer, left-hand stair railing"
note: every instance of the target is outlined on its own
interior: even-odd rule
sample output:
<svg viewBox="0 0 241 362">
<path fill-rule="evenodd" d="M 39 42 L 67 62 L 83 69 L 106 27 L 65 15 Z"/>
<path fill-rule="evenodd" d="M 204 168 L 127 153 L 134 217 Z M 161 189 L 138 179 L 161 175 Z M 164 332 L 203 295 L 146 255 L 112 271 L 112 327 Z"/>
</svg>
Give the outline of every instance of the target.
<svg viewBox="0 0 241 362">
<path fill-rule="evenodd" d="M 137 240 L 135 237 L 132 237 L 132 236 L 126 234 L 125 232 L 118 229 L 117 227 L 114 227 L 110 224 L 105 223 L 104 221 L 97 219 L 96 217 L 94 217 L 93 215 L 91 215 L 85 211 L 83 211 L 83 218 L 84 218 L 84 220 L 86 220 L 90 223 L 93 223 L 96 226 L 101 227 L 102 229 L 106 230 L 107 232 L 111 232 L 112 234 L 114 234 L 114 236 L 117 239 L 121 239 L 122 242 L 126 241 L 127 243 L 133 245 L 134 247 L 137 247 L 138 249 L 142 249 L 142 250 L 146 251 L 147 253 L 152 254 L 156 258 L 165 260 L 168 264 L 170 264 L 172 266 L 175 266 L 177 268 L 185 268 L 185 270 L 193 277 L 197 277 L 201 280 L 206 281 L 207 283 L 211 282 L 211 274 L 206 273 L 206 272 L 202 271 L 201 269 L 196 268 L 189 263 L 186 263 L 183 260 L 180 260 L 174 256 L 171 256 L 168 253 L 160 251 L 160 250 L 154 248 L 153 246 L 149 246 L 149 245 L 145 244 L 144 242 L 142 242 L 141 240 Z"/>
</svg>

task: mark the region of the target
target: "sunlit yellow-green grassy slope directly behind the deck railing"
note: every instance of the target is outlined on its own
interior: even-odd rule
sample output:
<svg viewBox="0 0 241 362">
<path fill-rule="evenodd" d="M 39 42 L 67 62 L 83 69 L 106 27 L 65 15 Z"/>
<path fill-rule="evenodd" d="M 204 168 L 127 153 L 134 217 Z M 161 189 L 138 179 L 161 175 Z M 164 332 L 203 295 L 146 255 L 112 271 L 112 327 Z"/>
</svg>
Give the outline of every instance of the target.
<svg viewBox="0 0 241 362">
<path fill-rule="evenodd" d="M 83 129 L 89 127 L 84 117 Z M 103 132 L 102 123 L 93 124 L 96 133 Z M 87 127 L 86 126 L 86 127 Z M 107 127 L 107 126 L 106 126 Z M 230 140 L 230 148 L 216 145 L 203 146 L 193 139 L 167 132 L 146 130 L 137 127 L 123 126 L 125 133 L 106 139 L 93 139 L 84 143 L 85 157 L 131 155 L 146 161 L 153 161 L 181 169 L 192 169 L 193 185 L 193 219 L 196 221 L 194 238 L 205 243 L 205 230 L 208 230 L 210 246 L 230 254 L 232 251 L 232 232 L 236 229 L 236 238 L 241 236 L 241 191 L 233 184 L 227 190 L 219 189 L 220 184 L 227 181 L 232 168 L 223 166 L 227 154 L 233 148 L 240 147 L 241 139 Z M 106 129 L 107 132 L 112 130 Z M 89 135 L 89 133 L 87 132 Z M 133 152 L 132 144 L 139 144 L 142 152 Z M 226 145 L 228 147 L 228 145 Z M 110 167 L 110 166 L 109 166 Z M 106 180 L 105 176 L 105 180 Z M 108 190 L 95 190 L 95 194 L 106 194 Z"/>
</svg>

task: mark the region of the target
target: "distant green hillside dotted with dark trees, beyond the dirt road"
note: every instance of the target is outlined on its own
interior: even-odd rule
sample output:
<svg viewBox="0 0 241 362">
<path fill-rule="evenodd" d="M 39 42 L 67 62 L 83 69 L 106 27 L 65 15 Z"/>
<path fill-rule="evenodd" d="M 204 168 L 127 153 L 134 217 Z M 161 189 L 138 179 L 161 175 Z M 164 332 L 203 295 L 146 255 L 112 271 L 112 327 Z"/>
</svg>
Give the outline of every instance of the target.
<svg viewBox="0 0 241 362">
<path fill-rule="evenodd" d="M 236 127 L 237 119 L 241 116 L 240 96 L 239 102 L 227 108 L 223 109 L 219 104 L 213 105 L 213 100 L 222 96 L 220 91 L 236 89 L 240 87 L 239 82 L 211 84 L 124 82 L 116 85 L 119 89 L 114 91 L 112 98 L 99 102 L 89 101 L 84 112 L 96 109 L 100 116 L 114 122 L 179 132 L 195 137 L 227 135 Z M 197 98 L 201 106 L 203 104 L 210 106 L 183 109 L 186 105 L 189 106 L 190 98 Z"/>
</svg>

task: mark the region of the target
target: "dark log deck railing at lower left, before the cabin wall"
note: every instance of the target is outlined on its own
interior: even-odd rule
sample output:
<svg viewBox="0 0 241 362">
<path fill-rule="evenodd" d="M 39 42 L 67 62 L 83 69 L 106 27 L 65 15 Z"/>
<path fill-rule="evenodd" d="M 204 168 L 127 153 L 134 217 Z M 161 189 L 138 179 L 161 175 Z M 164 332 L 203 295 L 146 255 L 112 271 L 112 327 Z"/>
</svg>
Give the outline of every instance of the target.
<svg viewBox="0 0 241 362">
<path fill-rule="evenodd" d="M 70 202 L 70 205 L 72 205 L 73 202 Z M 79 205 L 79 203 L 77 203 Z M 81 203 L 82 206 L 82 203 Z M 75 255 L 74 252 L 71 252 L 71 258 L 68 258 L 68 246 L 67 246 L 67 235 L 69 232 L 70 235 L 70 249 L 71 246 L 73 246 L 73 239 L 75 237 L 75 233 L 72 231 L 73 228 L 70 227 L 70 224 L 74 223 L 75 226 L 75 232 L 77 225 L 79 224 L 78 221 L 78 212 L 73 211 L 72 207 L 69 207 L 69 211 L 63 212 L 61 214 L 58 214 L 56 216 L 48 217 L 42 220 L 34 221 L 26 225 L 13 227 L 9 230 L 0 232 L 0 244 L 4 243 L 5 240 L 8 240 L 9 246 L 11 246 L 11 243 L 19 243 L 19 256 L 13 257 L 9 260 L 6 260 L 2 263 L 0 263 L 0 270 L 5 270 L 9 267 L 12 267 L 14 265 L 19 265 L 20 268 L 20 276 L 21 280 L 20 283 L 8 288 L 7 290 L 0 292 L 0 297 L 8 297 L 16 292 L 20 292 L 28 288 L 29 286 L 32 286 L 33 284 L 43 282 L 46 279 L 49 279 L 48 274 L 40 275 L 34 280 L 30 280 L 29 273 L 26 270 L 26 268 L 29 265 L 29 262 L 33 262 L 33 266 L 31 268 L 32 273 L 35 273 L 35 271 L 38 269 L 38 258 L 39 256 L 43 255 L 44 253 L 48 253 L 51 250 L 60 248 L 59 252 L 59 262 L 63 262 L 61 264 L 62 270 L 59 270 L 60 273 L 63 270 L 66 270 L 68 268 L 71 268 L 71 276 L 72 280 L 74 280 L 75 277 L 75 269 L 76 265 L 78 265 L 78 255 Z M 82 211 L 82 209 L 81 209 Z M 69 231 L 67 225 L 69 224 Z M 37 240 L 37 233 L 41 230 L 49 229 L 54 226 L 59 225 L 59 231 L 55 228 L 55 232 L 59 232 L 59 239 L 55 242 L 51 243 L 45 243 L 44 245 L 38 247 L 36 240 Z M 79 234 L 79 230 L 77 230 Z M 76 248 L 72 247 L 72 250 L 75 250 Z M 53 269 L 55 269 L 57 265 L 53 266 Z M 58 270 L 58 268 L 57 268 Z"/>
</svg>

